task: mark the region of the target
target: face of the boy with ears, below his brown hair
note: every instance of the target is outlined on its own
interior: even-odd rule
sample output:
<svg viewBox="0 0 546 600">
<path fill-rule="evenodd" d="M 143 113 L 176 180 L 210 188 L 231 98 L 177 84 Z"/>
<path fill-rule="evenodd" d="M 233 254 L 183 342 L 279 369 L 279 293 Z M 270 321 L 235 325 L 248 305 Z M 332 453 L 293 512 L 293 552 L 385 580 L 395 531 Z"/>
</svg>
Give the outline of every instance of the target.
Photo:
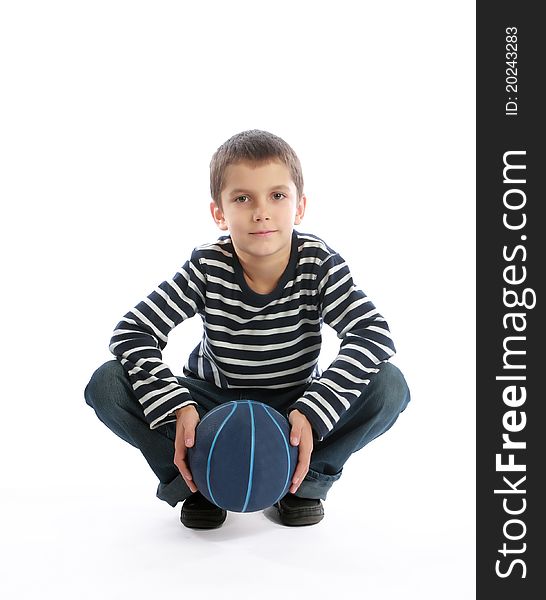
<svg viewBox="0 0 546 600">
<path fill-rule="evenodd" d="M 278 161 L 241 162 L 227 167 L 225 181 L 222 208 L 213 201 L 210 209 L 218 227 L 229 230 L 237 254 L 285 257 L 306 205 L 305 195 L 298 201 L 288 168 Z"/>
</svg>

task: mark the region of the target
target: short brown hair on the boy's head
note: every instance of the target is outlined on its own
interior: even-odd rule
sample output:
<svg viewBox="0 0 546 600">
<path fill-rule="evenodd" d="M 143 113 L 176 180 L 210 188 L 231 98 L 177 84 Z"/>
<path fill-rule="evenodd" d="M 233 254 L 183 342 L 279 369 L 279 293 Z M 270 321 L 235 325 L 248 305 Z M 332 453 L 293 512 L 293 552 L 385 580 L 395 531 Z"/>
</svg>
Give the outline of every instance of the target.
<svg viewBox="0 0 546 600">
<path fill-rule="evenodd" d="M 272 160 L 286 165 L 300 199 L 303 195 L 303 175 L 299 158 L 282 138 L 261 129 L 249 129 L 235 134 L 213 154 L 210 161 L 212 199 L 219 207 L 222 206 L 221 192 L 225 186 L 225 173 L 229 165 L 243 161 L 263 164 Z"/>
</svg>

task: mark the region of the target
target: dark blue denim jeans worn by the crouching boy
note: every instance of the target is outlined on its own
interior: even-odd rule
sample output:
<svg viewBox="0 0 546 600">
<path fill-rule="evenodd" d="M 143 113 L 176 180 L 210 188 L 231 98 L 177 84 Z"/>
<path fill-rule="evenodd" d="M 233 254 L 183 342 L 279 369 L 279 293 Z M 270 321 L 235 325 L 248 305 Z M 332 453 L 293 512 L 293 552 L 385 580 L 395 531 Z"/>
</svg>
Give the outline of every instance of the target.
<svg viewBox="0 0 546 600">
<path fill-rule="evenodd" d="M 222 390 L 200 379 L 177 379 L 190 390 L 201 418 L 218 404 L 243 399 L 264 402 L 286 416 L 286 409 L 303 395 L 307 387 L 304 385 L 286 391 L 255 388 Z M 150 429 L 117 359 L 105 362 L 93 373 L 84 396 L 109 429 L 142 452 L 159 479 L 156 492 L 159 499 L 176 506 L 191 495 L 173 462 L 176 424 L 167 423 Z M 343 465 L 351 454 L 387 431 L 409 400 L 410 392 L 400 370 L 391 363 L 382 364 L 371 383 L 363 386 L 361 398 L 342 415 L 334 429 L 321 442 L 314 441 L 310 468 L 296 496 L 325 500 L 329 489 L 341 477 Z"/>
</svg>

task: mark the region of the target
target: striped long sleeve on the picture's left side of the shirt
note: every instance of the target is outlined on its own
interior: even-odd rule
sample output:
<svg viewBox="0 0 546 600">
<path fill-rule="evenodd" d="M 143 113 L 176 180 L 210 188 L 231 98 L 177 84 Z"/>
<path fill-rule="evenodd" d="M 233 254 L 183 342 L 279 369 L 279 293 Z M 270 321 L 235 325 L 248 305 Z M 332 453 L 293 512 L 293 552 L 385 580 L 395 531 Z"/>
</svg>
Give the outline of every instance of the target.
<svg viewBox="0 0 546 600">
<path fill-rule="evenodd" d="M 163 363 L 169 332 L 204 310 L 205 277 L 196 252 L 168 281 L 161 283 L 116 325 L 110 352 L 121 362 L 144 416 L 155 429 L 175 420 L 177 408 L 196 404 Z"/>
</svg>

